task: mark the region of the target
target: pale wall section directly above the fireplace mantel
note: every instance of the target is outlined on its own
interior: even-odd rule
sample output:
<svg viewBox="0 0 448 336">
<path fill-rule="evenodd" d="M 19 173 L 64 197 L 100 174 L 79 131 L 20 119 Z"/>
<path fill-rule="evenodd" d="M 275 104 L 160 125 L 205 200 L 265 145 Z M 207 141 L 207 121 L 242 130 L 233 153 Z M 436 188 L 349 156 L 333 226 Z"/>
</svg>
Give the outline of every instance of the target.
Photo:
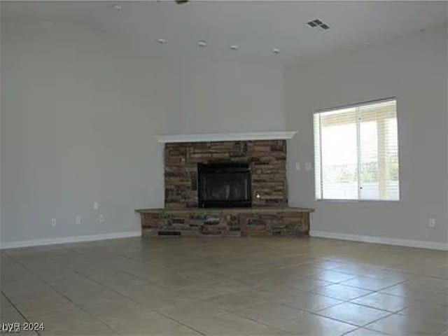
<svg viewBox="0 0 448 336">
<path fill-rule="evenodd" d="M 180 62 L 170 105 L 175 134 L 285 129 L 281 69 L 237 63 Z"/>
</svg>

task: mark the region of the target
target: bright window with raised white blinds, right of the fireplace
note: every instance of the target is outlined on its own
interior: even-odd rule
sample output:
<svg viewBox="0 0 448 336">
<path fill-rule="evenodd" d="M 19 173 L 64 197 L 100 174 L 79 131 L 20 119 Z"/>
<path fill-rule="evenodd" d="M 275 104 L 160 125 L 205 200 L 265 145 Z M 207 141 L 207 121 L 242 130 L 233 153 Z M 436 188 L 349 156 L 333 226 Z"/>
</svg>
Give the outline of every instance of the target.
<svg viewBox="0 0 448 336">
<path fill-rule="evenodd" d="M 314 114 L 317 200 L 400 199 L 395 99 Z"/>
</svg>

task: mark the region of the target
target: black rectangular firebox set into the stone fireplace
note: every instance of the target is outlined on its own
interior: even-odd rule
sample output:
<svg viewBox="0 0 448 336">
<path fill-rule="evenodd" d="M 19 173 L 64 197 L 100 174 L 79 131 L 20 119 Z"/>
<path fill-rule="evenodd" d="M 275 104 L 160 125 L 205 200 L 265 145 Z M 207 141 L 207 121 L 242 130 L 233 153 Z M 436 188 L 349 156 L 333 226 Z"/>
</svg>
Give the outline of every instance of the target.
<svg viewBox="0 0 448 336">
<path fill-rule="evenodd" d="M 251 169 L 248 163 L 198 164 L 200 208 L 251 207 Z"/>
</svg>

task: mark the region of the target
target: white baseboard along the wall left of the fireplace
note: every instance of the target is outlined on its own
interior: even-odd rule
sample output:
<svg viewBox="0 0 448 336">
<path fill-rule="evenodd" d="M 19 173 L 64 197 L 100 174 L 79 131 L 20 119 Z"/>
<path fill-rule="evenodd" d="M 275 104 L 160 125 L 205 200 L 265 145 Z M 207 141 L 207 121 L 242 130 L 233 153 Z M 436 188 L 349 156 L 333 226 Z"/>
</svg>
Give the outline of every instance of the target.
<svg viewBox="0 0 448 336">
<path fill-rule="evenodd" d="M 104 235 L 57 237 L 57 238 L 34 239 L 34 240 L 24 240 L 24 241 L 5 241 L 5 242 L 0 242 L 0 249 L 29 247 L 29 246 L 41 246 L 41 245 L 53 245 L 53 244 L 78 243 L 80 241 L 95 241 L 95 240 L 105 240 L 105 239 L 140 237 L 140 236 L 141 236 L 141 231 L 139 230 L 139 231 L 106 233 Z"/>
</svg>

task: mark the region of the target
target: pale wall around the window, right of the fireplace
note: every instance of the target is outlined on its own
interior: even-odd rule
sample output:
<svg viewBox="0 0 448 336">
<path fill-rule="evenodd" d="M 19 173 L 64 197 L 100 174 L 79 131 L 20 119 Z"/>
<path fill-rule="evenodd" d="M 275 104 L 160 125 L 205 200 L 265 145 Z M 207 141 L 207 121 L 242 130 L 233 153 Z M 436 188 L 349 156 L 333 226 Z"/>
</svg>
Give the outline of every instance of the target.
<svg viewBox="0 0 448 336">
<path fill-rule="evenodd" d="M 316 209 L 312 230 L 448 241 L 447 38 L 437 27 L 286 67 L 287 125 L 299 131 L 288 147 L 289 200 Z M 316 202 L 314 172 L 294 170 L 314 162 L 313 111 L 384 97 L 398 102 L 400 202 Z"/>
</svg>

